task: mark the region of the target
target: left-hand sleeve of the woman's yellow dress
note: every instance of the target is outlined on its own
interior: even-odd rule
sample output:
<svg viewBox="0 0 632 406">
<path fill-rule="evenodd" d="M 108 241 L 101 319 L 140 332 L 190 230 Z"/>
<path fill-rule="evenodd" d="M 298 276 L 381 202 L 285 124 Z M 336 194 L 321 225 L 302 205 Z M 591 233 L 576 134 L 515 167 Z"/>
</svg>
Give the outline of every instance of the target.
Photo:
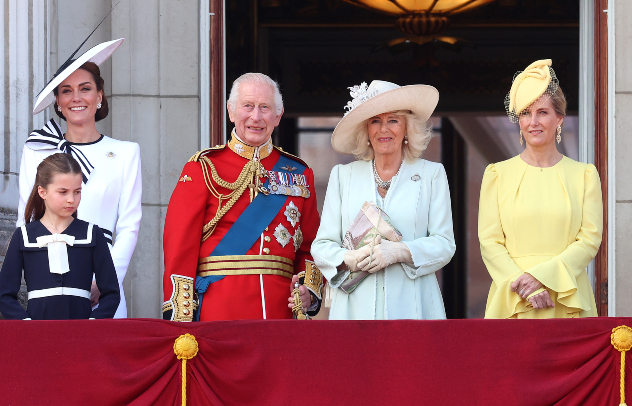
<svg viewBox="0 0 632 406">
<path fill-rule="evenodd" d="M 487 271 L 493 279 L 487 299 L 485 318 L 508 318 L 516 307 L 525 302 L 511 291 L 511 283 L 524 272 L 518 267 L 505 247 L 505 233 L 498 207 L 499 174 L 491 164 L 485 169 L 478 207 L 478 239 Z M 522 302 L 522 303 L 521 303 Z"/>
</svg>

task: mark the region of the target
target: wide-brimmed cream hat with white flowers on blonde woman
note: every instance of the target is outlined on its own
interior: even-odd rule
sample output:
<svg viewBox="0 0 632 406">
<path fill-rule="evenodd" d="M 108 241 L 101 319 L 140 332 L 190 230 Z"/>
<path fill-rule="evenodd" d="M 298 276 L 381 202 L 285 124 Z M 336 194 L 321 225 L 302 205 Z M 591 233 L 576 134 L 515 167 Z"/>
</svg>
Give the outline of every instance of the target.
<svg viewBox="0 0 632 406">
<path fill-rule="evenodd" d="M 391 111 L 410 110 L 427 121 L 439 102 L 439 91 L 428 85 L 399 86 L 374 80 L 368 87 L 362 82 L 349 90 L 353 98 L 345 106 L 349 111 L 331 135 L 331 145 L 343 154 L 353 154 L 357 149 L 356 129 L 369 118 Z"/>
</svg>

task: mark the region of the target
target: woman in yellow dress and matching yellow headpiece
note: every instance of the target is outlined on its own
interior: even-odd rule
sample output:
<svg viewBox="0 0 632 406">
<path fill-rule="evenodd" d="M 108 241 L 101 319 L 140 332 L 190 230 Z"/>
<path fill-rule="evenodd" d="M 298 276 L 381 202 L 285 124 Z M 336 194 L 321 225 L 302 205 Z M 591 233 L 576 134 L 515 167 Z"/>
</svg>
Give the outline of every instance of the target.
<svg viewBox="0 0 632 406">
<path fill-rule="evenodd" d="M 594 165 L 557 150 L 566 99 L 550 65 L 514 77 L 505 107 L 526 146 L 483 176 L 478 238 L 493 279 L 485 318 L 597 316 L 586 266 L 601 244 L 601 183 Z"/>
</svg>

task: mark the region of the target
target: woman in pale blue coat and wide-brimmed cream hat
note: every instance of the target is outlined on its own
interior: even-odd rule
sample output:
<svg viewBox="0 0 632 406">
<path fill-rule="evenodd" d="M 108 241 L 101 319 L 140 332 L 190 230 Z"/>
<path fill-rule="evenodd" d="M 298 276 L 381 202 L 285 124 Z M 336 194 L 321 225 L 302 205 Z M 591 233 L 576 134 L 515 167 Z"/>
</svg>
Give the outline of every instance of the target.
<svg viewBox="0 0 632 406">
<path fill-rule="evenodd" d="M 435 272 L 455 251 L 450 194 L 443 166 L 420 159 L 431 138 L 426 121 L 439 94 L 431 86 L 373 81 L 351 88 L 350 110 L 332 145 L 358 161 L 331 172 L 312 255 L 330 281 L 330 319 L 444 319 Z M 342 247 L 365 202 L 390 217 L 402 242 L 378 240 L 358 250 Z M 368 271 L 350 294 L 338 272 Z"/>
</svg>

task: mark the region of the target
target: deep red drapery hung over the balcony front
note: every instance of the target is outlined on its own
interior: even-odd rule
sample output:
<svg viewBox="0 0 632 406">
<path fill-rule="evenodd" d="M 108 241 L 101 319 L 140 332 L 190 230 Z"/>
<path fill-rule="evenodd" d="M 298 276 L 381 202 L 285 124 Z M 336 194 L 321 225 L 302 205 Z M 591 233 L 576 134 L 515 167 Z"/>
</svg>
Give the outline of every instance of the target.
<svg viewBox="0 0 632 406">
<path fill-rule="evenodd" d="M 0 321 L 0 405 L 613 405 L 632 318 Z M 632 360 L 626 358 L 632 398 Z"/>
</svg>

